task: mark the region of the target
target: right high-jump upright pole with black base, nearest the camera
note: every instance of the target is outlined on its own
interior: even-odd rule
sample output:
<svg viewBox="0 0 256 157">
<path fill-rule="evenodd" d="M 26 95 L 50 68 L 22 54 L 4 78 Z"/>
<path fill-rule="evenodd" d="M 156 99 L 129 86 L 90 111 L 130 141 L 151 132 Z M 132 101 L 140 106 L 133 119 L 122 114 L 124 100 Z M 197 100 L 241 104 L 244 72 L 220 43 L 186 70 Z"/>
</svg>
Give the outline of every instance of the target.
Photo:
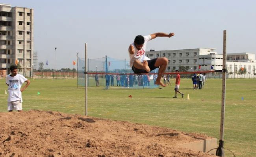
<svg viewBox="0 0 256 157">
<path fill-rule="evenodd" d="M 225 102 L 226 102 L 226 30 L 223 32 L 223 71 L 222 71 L 222 95 L 221 95 L 221 127 L 219 147 L 216 155 L 224 157 L 224 119 L 225 119 Z"/>
</svg>

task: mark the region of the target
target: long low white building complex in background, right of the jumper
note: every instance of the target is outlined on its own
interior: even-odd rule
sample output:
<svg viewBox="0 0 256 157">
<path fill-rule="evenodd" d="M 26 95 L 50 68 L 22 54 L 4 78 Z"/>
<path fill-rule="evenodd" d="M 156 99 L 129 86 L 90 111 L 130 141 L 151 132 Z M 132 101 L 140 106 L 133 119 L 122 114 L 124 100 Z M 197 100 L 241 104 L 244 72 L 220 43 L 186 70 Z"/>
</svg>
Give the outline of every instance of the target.
<svg viewBox="0 0 256 157">
<path fill-rule="evenodd" d="M 174 71 L 179 66 L 184 66 L 188 71 L 207 71 L 223 69 L 223 55 L 217 54 L 214 48 L 179 49 L 146 52 L 150 59 L 157 57 L 167 57 L 168 66 L 166 71 Z M 200 69 L 199 69 L 200 67 Z M 229 53 L 227 54 L 226 69 L 230 73 L 229 77 L 239 77 L 236 73 L 239 69 L 247 70 L 247 77 L 253 78 L 256 73 L 255 54 L 252 53 Z M 232 75 L 233 74 L 233 75 Z M 241 77 L 241 76 L 240 76 Z"/>
</svg>

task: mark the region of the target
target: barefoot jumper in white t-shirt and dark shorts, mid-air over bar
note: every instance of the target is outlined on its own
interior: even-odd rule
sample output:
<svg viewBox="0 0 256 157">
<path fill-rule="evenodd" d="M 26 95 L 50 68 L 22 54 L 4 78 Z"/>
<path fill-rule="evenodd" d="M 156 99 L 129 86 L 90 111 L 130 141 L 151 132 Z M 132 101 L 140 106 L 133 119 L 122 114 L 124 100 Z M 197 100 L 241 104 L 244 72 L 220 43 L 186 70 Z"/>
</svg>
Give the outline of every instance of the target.
<svg viewBox="0 0 256 157">
<path fill-rule="evenodd" d="M 149 40 L 156 37 L 172 37 L 174 33 L 154 33 L 147 36 L 137 35 L 134 42 L 130 44 L 128 52 L 130 56 L 130 67 L 135 74 L 148 73 L 156 68 L 159 68 L 159 73 L 165 72 L 166 66 L 168 64 L 168 59 L 165 57 L 154 58 L 150 60 L 146 55 L 146 45 Z M 161 85 L 163 87 L 167 86 L 161 82 L 162 74 L 159 74 L 155 84 Z"/>
</svg>

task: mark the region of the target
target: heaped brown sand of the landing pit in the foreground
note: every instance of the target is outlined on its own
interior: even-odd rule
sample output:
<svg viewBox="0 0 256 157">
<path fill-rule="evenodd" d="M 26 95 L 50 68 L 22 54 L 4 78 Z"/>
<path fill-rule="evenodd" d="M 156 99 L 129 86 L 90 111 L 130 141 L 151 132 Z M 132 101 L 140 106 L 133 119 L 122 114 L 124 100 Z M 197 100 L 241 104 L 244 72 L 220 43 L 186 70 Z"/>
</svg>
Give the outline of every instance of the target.
<svg viewBox="0 0 256 157">
<path fill-rule="evenodd" d="M 178 148 L 208 138 L 53 111 L 0 113 L 1 157 L 215 157 Z"/>
</svg>

